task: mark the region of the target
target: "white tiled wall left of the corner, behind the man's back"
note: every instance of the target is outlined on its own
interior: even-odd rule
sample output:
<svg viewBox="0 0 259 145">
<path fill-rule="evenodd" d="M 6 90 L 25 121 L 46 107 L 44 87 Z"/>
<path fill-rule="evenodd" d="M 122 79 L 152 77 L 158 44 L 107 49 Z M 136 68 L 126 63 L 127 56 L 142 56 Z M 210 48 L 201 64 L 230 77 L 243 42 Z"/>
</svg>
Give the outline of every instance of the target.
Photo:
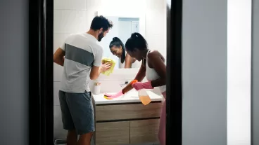
<svg viewBox="0 0 259 145">
<path fill-rule="evenodd" d="M 54 0 L 53 25 L 53 51 L 55 52 L 70 34 L 87 32 L 87 0 Z M 67 132 L 63 130 L 58 99 L 63 67 L 55 63 L 53 65 L 54 138 L 65 138 Z"/>
</svg>

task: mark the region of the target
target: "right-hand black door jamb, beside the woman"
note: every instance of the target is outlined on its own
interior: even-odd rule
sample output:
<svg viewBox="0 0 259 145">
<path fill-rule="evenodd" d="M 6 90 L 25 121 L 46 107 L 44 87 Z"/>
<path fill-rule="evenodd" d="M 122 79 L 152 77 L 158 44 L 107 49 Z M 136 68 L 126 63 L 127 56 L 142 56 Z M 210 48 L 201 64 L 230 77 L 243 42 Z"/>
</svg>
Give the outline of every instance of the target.
<svg viewBox="0 0 259 145">
<path fill-rule="evenodd" d="M 182 0 L 167 0 L 166 144 L 182 145 Z"/>
</svg>

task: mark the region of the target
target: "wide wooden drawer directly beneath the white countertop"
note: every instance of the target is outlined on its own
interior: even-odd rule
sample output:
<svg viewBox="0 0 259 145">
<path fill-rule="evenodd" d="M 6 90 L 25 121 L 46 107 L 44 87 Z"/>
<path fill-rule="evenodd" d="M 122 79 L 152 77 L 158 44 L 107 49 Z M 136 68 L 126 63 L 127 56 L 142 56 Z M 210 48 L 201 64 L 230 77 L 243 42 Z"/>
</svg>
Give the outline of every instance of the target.
<svg viewBox="0 0 259 145">
<path fill-rule="evenodd" d="M 159 117 L 161 107 L 161 102 L 146 106 L 143 104 L 96 106 L 96 121 Z"/>
</svg>

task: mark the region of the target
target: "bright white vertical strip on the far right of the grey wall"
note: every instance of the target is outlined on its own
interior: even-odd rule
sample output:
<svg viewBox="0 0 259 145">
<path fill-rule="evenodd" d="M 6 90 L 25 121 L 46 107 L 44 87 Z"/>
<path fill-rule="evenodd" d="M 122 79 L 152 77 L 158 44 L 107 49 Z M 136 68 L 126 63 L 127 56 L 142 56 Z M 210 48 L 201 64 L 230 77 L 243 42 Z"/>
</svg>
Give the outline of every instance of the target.
<svg viewBox="0 0 259 145">
<path fill-rule="evenodd" d="M 227 144 L 251 144 L 251 0 L 227 1 Z"/>
</svg>

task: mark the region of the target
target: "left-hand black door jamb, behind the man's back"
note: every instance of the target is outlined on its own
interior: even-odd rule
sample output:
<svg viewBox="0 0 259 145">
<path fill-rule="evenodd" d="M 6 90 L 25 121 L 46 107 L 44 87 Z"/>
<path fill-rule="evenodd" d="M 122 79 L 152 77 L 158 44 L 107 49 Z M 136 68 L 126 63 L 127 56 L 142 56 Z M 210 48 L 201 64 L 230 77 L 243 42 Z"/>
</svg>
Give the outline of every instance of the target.
<svg viewBox="0 0 259 145">
<path fill-rule="evenodd" d="M 53 0 L 29 1 L 29 144 L 53 144 Z"/>
</svg>

